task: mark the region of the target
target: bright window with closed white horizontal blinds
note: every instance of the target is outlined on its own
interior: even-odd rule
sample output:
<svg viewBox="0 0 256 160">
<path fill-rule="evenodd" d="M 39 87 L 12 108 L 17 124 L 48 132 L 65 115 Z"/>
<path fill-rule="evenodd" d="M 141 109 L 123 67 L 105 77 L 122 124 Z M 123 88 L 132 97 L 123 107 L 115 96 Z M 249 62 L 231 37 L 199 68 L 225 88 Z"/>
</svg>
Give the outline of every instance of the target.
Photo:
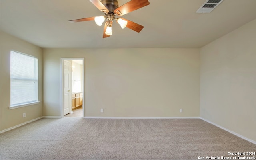
<svg viewBox="0 0 256 160">
<path fill-rule="evenodd" d="M 10 109 L 38 103 L 38 58 L 11 51 Z"/>
</svg>

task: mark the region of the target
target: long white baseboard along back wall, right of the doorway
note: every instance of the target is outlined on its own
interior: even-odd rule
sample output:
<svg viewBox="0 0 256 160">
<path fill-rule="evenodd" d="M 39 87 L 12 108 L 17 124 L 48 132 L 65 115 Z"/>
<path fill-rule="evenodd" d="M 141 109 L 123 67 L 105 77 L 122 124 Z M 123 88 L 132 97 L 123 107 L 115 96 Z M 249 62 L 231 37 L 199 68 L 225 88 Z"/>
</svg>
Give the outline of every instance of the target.
<svg viewBox="0 0 256 160">
<path fill-rule="evenodd" d="M 96 118 L 96 119 L 200 119 L 200 117 L 96 117 L 85 116 L 84 118 Z"/>
</svg>

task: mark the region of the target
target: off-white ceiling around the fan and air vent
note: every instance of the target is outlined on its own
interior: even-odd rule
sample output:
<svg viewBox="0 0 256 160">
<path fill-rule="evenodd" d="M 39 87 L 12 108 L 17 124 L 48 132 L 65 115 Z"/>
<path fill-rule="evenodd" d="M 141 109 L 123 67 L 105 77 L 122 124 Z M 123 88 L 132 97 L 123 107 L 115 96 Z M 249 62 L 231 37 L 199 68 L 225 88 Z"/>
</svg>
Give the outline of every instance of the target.
<svg viewBox="0 0 256 160">
<path fill-rule="evenodd" d="M 140 33 L 114 21 L 103 39 L 103 25 L 68 22 L 104 15 L 89 0 L 0 0 L 0 29 L 42 48 L 198 48 L 256 19 L 256 0 L 224 0 L 196 13 L 205 1 L 149 0 L 122 16 L 143 25 Z"/>
</svg>

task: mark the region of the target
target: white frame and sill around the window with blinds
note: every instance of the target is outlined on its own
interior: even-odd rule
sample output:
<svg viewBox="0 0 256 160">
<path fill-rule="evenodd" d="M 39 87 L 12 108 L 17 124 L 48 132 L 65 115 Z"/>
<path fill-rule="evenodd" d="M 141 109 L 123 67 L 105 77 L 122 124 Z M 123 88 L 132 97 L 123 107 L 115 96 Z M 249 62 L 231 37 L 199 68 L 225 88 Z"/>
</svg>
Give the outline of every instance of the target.
<svg viewBox="0 0 256 160">
<path fill-rule="evenodd" d="M 18 104 L 13 104 L 13 105 L 11 105 L 11 83 L 10 83 L 10 106 L 9 106 L 9 109 L 16 109 L 16 108 L 20 108 L 20 107 L 26 107 L 26 106 L 29 106 L 29 105 L 34 105 L 34 104 L 38 104 L 40 101 L 39 101 L 39 59 L 38 59 L 38 57 L 36 57 L 36 56 L 32 56 L 32 55 L 28 55 L 28 54 L 26 54 L 26 53 L 22 53 L 22 52 L 19 52 L 19 51 L 15 51 L 15 50 L 11 50 L 10 51 L 10 82 L 11 82 L 11 80 L 12 80 L 12 78 L 11 78 L 11 54 L 12 54 L 12 52 L 14 52 L 14 53 L 19 53 L 19 54 L 22 54 L 22 55 L 25 55 L 25 56 L 29 56 L 29 57 L 32 57 L 32 58 L 34 58 L 34 59 L 37 59 L 37 64 L 36 64 L 36 66 L 34 66 L 36 69 L 36 74 L 37 74 L 37 76 L 36 76 L 36 82 L 37 82 L 37 84 L 36 84 L 36 97 L 37 97 L 37 100 L 36 101 L 30 101 L 30 102 L 27 102 L 27 103 L 18 103 Z M 22 79 L 22 78 L 20 78 L 20 79 Z"/>
</svg>

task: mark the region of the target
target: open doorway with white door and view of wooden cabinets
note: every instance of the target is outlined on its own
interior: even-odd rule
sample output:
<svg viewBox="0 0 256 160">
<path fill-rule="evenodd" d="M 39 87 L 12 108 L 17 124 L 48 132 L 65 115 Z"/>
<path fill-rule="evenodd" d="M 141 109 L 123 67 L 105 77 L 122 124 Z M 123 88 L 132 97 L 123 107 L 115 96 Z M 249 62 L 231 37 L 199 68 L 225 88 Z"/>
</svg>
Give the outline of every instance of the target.
<svg viewBox="0 0 256 160">
<path fill-rule="evenodd" d="M 84 117 L 84 59 L 62 58 L 62 117 Z"/>
</svg>

